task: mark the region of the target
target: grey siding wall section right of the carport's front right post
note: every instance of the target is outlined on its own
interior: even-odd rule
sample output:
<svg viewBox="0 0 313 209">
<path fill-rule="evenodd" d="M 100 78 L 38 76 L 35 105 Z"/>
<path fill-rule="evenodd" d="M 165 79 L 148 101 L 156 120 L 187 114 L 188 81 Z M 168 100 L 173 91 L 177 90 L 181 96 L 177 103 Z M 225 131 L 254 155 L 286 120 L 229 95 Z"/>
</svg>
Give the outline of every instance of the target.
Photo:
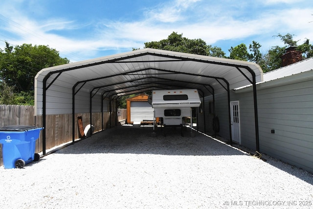
<svg viewBox="0 0 313 209">
<path fill-rule="evenodd" d="M 258 101 L 261 151 L 313 172 L 312 80 L 259 91 Z"/>
</svg>

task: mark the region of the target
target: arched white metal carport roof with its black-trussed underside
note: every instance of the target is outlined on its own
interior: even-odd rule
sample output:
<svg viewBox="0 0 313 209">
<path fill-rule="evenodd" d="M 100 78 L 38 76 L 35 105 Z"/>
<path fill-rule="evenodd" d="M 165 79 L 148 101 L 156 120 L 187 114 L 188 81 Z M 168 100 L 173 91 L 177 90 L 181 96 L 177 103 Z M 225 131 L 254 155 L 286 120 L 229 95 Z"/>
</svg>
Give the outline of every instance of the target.
<svg viewBox="0 0 313 209">
<path fill-rule="evenodd" d="M 105 96 L 197 88 L 205 96 L 212 94 L 212 89 L 214 93 L 227 90 L 227 83 L 231 90 L 262 80 L 261 68 L 252 62 L 144 48 L 39 71 L 35 105 L 43 102 L 39 99 L 43 91 L 56 87 Z"/>
</svg>

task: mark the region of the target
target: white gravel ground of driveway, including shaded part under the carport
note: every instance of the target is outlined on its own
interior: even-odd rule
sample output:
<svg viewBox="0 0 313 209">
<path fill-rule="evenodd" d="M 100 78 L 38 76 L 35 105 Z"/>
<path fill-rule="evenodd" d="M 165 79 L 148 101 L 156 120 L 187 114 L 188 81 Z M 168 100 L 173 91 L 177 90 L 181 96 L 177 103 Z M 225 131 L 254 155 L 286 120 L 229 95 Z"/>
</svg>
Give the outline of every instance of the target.
<svg viewBox="0 0 313 209">
<path fill-rule="evenodd" d="M 309 209 L 313 175 L 200 133 L 115 127 L 23 169 L 0 167 L 5 209 Z"/>
</svg>

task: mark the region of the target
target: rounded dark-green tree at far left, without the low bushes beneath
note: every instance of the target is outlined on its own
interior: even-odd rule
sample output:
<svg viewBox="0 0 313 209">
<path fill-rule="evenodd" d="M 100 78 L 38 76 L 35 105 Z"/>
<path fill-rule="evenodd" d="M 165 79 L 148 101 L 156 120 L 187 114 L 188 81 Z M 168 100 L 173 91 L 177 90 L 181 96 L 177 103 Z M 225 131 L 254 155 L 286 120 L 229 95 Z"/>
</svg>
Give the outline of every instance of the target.
<svg viewBox="0 0 313 209">
<path fill-rule="evenodd" d="M 4 50 L 0 50 L 0 76 L 18 92 L 33 90 L 34 77 L 40 70 L 69 63 L 49 46 L 23 44 L 13 48 L 7 42 L 5 44 Z"/>
</svg>

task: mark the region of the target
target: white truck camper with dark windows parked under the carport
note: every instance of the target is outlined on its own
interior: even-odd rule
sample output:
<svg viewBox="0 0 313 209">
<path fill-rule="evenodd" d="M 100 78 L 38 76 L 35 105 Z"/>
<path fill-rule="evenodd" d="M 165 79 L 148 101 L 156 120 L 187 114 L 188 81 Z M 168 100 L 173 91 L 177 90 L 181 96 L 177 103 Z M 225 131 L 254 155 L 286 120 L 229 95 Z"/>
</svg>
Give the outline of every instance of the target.
<svg viewBox="0 0 313 209">
<path fill-rule="evenodd" d="M 184 117 L 192 117 L 191 108 L 201 104 L 197 89 L 154 90 L 151 99 L 155 117 L 164 126 L 181 126 Z"/>
</svg>

